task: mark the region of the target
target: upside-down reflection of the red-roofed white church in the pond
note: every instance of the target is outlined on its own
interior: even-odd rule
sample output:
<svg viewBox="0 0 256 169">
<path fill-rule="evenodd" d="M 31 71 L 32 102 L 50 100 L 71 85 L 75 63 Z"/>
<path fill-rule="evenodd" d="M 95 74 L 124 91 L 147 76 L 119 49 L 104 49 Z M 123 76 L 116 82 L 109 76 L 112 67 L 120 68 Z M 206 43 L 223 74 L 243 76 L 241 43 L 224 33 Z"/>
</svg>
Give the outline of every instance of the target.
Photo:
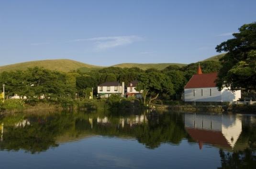
<svg viewBox="0 0 256 169">
<path fill-rule="evenodd" d="M 199 142 L 200 149 L 203 143 L 233 149 L 242 132 L 239 115 L 186 113 L 184 116 L 185 129 L 192 139 Z"/>
</svg>

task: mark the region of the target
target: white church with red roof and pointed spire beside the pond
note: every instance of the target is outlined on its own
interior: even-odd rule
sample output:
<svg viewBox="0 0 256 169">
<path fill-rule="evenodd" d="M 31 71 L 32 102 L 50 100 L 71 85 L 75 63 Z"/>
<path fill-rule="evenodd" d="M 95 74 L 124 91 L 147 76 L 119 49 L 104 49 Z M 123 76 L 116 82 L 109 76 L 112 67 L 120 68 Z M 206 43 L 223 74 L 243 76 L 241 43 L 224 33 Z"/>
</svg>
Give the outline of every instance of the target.
<svg viewBox="0 0 256 169">
<path fill-rule="evenodd" d="M 217 72 L 202 73 L 200 65 L 184 87 L 184 101 L 236 101 L 241 98 L 241 90 L 231 91 L 227 88 L 218 90 L 216 86 Z"/>
</svg>

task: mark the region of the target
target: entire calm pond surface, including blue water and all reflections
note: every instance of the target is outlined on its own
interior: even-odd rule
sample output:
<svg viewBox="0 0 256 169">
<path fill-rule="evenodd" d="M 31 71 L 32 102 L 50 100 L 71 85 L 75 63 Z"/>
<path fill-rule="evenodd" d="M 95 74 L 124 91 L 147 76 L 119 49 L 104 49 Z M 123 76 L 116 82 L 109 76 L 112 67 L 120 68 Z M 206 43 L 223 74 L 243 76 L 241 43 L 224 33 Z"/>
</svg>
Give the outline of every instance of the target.
<svg viewBox="0 0 256 169">
<path fill-rule="evenodd" d="M 0 115 L 0 168 L 256 168 L 256 116 L 35 112 Z"/>
</svg>

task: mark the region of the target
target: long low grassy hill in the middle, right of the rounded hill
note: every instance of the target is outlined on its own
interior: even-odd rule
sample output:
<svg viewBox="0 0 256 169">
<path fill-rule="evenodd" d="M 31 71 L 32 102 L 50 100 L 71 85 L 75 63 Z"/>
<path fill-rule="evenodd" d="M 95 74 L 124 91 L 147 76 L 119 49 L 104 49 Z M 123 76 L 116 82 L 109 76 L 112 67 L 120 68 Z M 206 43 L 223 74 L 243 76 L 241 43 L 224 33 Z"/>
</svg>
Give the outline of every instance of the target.
<svg viewBox="0 0 256 169">
<path fill-rule="evenodd" d="M 119 67 L 119 68 L 132 68 L 132 67 L 138 67 L 142 70 L 155 68 L 157 70 L 163 70 L 167 66 L 170 65 L 178 65 L 179 67 L 186 66 L 187 64 L 181 64 L 181 63 L 121 63 L 117 65 L 113 65 L 113 67 Z"/>
</svg>

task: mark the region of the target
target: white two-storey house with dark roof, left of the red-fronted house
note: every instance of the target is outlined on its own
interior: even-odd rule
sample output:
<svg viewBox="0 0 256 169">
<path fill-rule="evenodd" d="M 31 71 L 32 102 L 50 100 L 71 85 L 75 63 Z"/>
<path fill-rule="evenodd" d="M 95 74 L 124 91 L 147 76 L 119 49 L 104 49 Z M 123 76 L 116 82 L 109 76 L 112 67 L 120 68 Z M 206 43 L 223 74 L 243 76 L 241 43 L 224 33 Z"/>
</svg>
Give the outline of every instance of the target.
<svg viewBox="0 0 256 169">
<path fill-rule="evenodd" d="M 111 94 L 121 94 L 124 96 L 124 82 L 109 81 L 98 85 L 98 97 L 109 98 Z"/>
</svg>

